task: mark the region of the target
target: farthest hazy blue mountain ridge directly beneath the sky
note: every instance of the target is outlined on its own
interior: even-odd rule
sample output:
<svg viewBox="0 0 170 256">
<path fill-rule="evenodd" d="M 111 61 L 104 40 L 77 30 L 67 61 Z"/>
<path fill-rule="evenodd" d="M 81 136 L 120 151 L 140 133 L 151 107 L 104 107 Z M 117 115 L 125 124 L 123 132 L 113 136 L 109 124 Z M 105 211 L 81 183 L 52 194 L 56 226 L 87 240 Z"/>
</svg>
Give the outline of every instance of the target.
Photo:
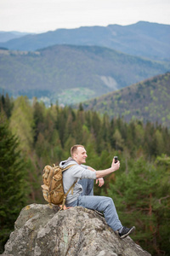
<svg viewBox="0 0 170 256">
<path fill-rule="evenodd" d="M 139 21 L 128 26 L 84 26 L 15 38 L 0 46 L 36 50 L 54 44 L 98 45 L 128 55 L 170 61 L 170 25 Z"/>
</svg>

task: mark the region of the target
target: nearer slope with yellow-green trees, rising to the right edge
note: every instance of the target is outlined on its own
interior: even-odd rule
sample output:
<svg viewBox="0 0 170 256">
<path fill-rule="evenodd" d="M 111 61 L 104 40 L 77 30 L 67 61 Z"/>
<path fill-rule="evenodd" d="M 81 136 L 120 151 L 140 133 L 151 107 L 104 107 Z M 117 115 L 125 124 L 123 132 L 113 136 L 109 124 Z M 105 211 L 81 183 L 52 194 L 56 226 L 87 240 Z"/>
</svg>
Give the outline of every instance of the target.
<svg viewBox="0 0 170 256">
<path fill-rule="evenodd" d="M 121 116 L 127 122 L 139 119 L 146 123 L 149 120 L 170 127 L 170 73 L 84 102 L 82 107 L 111 117 Z"/>
</svg>

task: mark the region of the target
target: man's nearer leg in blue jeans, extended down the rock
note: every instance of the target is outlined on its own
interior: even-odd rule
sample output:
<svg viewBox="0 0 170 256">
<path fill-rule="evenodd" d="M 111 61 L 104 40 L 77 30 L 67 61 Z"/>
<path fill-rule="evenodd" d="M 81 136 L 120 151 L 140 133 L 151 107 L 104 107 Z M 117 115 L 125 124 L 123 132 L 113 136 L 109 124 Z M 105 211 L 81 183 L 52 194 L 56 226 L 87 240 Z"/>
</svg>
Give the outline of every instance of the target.
<svg viewBox="0 0 170 256">
<path fill-rule="evenodd" d="M 116 207 L 111 197 L 80 195 L 78 197 L 78 206 L 104 212 L 106 223 L 112 230 L 116 231 L 122 229 L 122 223 L 119 220 Z"/>
</svg>

